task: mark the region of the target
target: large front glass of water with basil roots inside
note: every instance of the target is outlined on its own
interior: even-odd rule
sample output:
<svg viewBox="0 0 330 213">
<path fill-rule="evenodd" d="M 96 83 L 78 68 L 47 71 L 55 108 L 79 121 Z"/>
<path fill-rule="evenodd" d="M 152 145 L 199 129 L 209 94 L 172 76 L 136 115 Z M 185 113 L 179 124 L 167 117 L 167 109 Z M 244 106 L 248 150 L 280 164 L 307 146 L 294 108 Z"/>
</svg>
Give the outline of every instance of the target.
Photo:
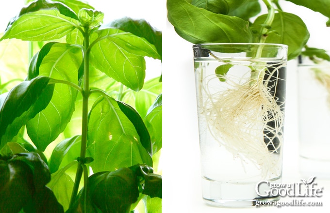
<svg viewBox="0 0 330 213">
<path fill-rule="evenodd" d="M 256 193 L 280 183 L 287 46 L 193 46 L 202 193 L 212 205 L 278 200 Z"/>
</svg>

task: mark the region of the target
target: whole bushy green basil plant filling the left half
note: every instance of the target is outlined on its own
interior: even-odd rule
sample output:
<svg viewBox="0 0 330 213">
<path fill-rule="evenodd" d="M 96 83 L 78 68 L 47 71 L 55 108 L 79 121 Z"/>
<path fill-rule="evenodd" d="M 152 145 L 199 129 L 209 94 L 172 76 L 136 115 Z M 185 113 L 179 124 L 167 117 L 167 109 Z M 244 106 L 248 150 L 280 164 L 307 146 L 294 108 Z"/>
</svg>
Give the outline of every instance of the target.
<svg viewBox="0 0 330 213">
<path fill-rule="evenodd" d="M 162 60 L 162 32 L 103 17 L 35 0 L 3 32 L 1 57 L 16 61 L 0 74 L 1 213 L 161 212 L 162 81 L 145 57 Z"/>
</svg>

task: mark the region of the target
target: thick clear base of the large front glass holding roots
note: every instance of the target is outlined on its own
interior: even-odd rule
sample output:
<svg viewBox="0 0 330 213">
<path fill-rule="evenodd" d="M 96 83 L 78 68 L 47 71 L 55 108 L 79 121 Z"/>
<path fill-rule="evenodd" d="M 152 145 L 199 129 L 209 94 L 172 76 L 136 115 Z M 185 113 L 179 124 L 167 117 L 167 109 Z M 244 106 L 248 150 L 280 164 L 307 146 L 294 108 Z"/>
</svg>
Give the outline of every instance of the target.
<svg viewBox="0 0 330 213">
<path fill-rule="evenodd" d="M 256 206 L 256 202 L 259 202 L 259 205 L 261 205 L 260 202 L 262 201 L 280 200 L 280 196 L 258 196 L 256 183 L 217 182 L 202 178 L 202 192 L 203 199 L 207 204 L 218 207 L 253 207 Z"/>
</svg>

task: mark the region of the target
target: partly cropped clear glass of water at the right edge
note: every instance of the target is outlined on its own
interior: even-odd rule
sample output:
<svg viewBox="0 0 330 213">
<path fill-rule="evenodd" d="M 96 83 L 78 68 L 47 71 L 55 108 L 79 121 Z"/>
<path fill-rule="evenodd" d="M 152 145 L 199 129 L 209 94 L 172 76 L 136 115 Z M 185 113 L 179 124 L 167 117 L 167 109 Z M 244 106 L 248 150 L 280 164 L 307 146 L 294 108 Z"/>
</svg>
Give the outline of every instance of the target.
<svg viewBox="0 0 330 213">
<path fill-rule="evenodd" d="M 298 64 L 299 168 L 305 177 L 330 178 L 330 62 Z"/>
</svg>

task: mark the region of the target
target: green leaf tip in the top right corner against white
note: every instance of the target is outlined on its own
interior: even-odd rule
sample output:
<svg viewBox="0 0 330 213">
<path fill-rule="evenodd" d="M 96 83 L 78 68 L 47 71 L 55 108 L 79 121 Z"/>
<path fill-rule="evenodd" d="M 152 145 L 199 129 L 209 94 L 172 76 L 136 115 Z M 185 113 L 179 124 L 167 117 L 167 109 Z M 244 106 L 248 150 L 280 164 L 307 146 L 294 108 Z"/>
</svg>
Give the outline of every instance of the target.
<svg viewBox="0 0 330 213">
<path fill-rule="evenodd" d="M 319 12 L 330 18 L 330 1 L 329 0 L 287 0 L 297 5 L 307 7 L 315 12 Z"/>
</svg>

